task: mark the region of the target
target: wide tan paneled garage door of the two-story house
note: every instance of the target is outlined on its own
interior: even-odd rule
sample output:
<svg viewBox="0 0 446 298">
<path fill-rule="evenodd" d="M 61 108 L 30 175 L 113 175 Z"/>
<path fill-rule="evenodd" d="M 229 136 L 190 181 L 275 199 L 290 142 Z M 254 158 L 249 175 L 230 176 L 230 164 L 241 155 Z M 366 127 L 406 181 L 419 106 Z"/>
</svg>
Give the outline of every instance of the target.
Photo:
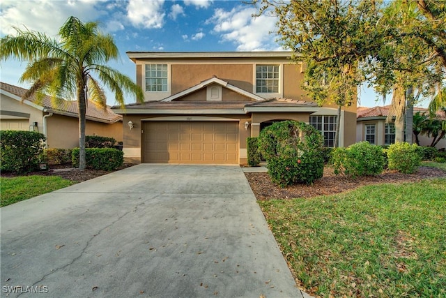
<svg viewBox="0 0 446 298">
<path fill-rule="evenodd" d="M 238 164 L 238 121 L 147 121 L 144 163 Z"/>
</svg>

